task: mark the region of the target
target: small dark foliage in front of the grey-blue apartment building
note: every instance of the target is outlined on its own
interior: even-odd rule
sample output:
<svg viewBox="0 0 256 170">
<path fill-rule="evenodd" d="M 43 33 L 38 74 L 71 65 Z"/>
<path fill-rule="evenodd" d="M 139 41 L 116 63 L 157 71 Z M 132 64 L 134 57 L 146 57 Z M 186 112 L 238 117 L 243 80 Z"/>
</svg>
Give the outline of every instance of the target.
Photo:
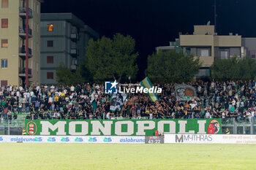
<svg viewBox="0 0 256 170">
<path fill-rule="evenodd" d="M 78 85 L 85 82 L 82 76 L 83 66 L 78 66 L 75 72 L 68 69 L 64 63 L 60 63 L 56 68 L 56 81 L 61 85 Z"/>
</svg>

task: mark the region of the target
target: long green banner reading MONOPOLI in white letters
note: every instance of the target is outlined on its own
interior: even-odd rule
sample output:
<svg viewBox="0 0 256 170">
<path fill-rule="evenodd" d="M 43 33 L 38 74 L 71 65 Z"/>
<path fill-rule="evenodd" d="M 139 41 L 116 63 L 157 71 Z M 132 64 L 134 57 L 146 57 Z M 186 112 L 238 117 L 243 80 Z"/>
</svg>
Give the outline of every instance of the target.
<svg viewBox="0 0 256 170">
<path fill-rule="evenodd" d="M 190 120 L 26 120 L 30 135 L 154 136 L 159 134 L 221 134 L 221 119 Z"/>
</svg>

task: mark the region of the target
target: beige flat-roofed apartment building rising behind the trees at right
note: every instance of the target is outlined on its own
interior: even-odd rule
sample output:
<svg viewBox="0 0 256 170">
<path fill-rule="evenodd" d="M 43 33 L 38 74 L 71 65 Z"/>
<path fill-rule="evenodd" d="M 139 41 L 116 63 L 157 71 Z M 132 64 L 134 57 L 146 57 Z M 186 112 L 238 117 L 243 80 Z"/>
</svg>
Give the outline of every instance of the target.
<svg viewBox="0 0 256 170">
<path fill-rule="evenodd" d="M 182 51 L 185 55 L 199 58 L 202 66 L 196 76 L 208 77 L 211 75 L 210 66 L 217 58 L 243 58 L 246 55 L 241 35 L 218 35 L 214 30 L 215 26 L 194 26 L 193 34 L 179 33 L 176 42 L 170 42 L 170 46 L 167 47 L 157 47 L 156 50 Z"/>
</svg>

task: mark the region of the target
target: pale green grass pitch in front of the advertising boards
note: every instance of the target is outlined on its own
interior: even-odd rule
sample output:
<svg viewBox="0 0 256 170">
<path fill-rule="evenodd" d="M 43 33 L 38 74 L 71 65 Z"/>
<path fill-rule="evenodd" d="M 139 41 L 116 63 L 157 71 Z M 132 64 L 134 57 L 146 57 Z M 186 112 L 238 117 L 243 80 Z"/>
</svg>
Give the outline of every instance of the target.
<svg viewBox="0 0 256 170">
<path fill-rule="evenodd" d="M 256 145 L 1 143 L 0 169 L 256 169 Z"/>
</svg>

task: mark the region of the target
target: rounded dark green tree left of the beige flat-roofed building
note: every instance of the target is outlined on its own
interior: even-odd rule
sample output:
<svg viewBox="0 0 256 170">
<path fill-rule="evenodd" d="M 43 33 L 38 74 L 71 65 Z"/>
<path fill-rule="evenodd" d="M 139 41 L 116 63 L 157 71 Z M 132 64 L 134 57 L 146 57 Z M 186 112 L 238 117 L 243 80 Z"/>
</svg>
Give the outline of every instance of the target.
<svg viewBox="0 0 256 170">
<path fill-rule="evenodd" d="M 146 76 L 154 82 L 189 82 L 198 73 L 200 62 L 192 55 L 159 51 L 148 56 Z"/>
</svg>

